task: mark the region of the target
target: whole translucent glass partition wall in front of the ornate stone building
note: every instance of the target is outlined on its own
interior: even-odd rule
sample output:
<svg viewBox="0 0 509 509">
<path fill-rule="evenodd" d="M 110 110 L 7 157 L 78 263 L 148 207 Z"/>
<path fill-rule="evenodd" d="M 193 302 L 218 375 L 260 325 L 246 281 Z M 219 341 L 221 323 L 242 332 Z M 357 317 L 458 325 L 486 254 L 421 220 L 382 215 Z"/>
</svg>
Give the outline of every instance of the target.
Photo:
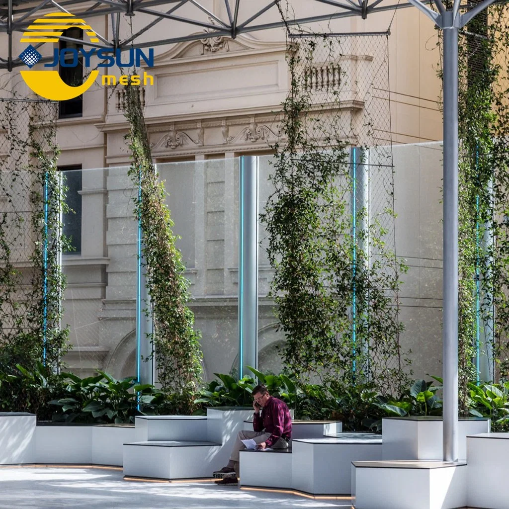
<svg viewBox="0 0 509 509">
<path fill-rule="evenodd" d="M 381 193 L 392 201 L 390 193 L 394 192 L 398 218 L 392 225 L 389 243 L 409 266 L 399 295 L 400 317 L 406 327 L 403 347 L 416 352 L 412 366 L 415 372 L 439 373 L 441 145 L 394 146 L 392 150 L 394 165 L 386 173 L 393 182 L 384 177 L 386 185 L 380 184 L 381 174 L 372 168 L 367 200 L 375 216 L 379 208 L 387 206 L 381 201 Z M 376 150 L 372 152 L 369 164 L 382 166 Z M 273 168 L 271 156 L 251 159 L 256 159 L 248 171 L 257 171 L 258 181 L 252 191 L 260 214 L 272 193 L 269 176 Z M 239 235 L 242 228 L 244 233 L 246 228 L 253 228 L 245 222 L 246 196 L 240 200 L 242 180 L 247 192 L 242 164 L 241 158 L 234 158 L 156 165 L 167 193 L 166 204 L 186 266 L 185 276 L 190 281 L 189 306 L 195 315 L 195 327 L 202 333 L 204 381 L 212 380 L 214 373 L 239 373 L 239 331 L 245 319 L 239 316 L 239 252 L 246 247 L 244 237 Z M 97 370 L 116 377 L 137 374 L 136 314 L 146 305 L 141 302 L 137 306 L 138 223 L 134 199 L 138 190 L 127 175 L 128 169 L 64 171 L 72 209 L 64 215 L 64 233 L 71 237 L 75 250 L 63 256 L 67 289 L 62 325 L 69 326 L 73 347 L 65 362 L 79 375 Z M 278 373 L 282 366 L 277 347 L 285 337 L 276 332 L 273 302 L 267 297 L 273 277 L 267 246 L 267 234 L 258 222 L 258 266 L 254 268 L 258 273 L 257 296 L 251 304 L 257 306 L 258 330 L 254 333 L 258 359 L 249 363 L 258 362 L 262 372 Z M 252 266 L 246 270 L 244 277 L 249 276 Z"/>
</svg>

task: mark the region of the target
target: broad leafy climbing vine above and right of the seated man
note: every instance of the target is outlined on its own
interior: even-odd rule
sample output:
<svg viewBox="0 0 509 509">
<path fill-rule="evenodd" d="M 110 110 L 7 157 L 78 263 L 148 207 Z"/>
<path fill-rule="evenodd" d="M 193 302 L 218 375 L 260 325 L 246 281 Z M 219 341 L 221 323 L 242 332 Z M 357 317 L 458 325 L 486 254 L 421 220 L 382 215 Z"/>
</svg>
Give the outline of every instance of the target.
<svg viewBox="0 0 509 509">
<path fill-rule="evenodd" d="M 406 267 L 386 243 L 391 208 L 374 216 L 365 204 L 354 206 L 360 180 L 352 167 L 368 161 L 367 147 L 359 146 L 361 157 L 352 162 L 350 147 L 352 140 L 373 140 L 376 125 L 366 113 L 364 134 L 345 135 L 341 102 L 349 76 L 342 53 L 341 41 L 327 37 L 288 45 L 291 82 L 274 145 L 275 190 L 261 217 L 275 271 L 270 295 L 286 336 L 288 371 L 401 392 L 409 361 L 400 346 L 397 293 Z"/>
</svg>

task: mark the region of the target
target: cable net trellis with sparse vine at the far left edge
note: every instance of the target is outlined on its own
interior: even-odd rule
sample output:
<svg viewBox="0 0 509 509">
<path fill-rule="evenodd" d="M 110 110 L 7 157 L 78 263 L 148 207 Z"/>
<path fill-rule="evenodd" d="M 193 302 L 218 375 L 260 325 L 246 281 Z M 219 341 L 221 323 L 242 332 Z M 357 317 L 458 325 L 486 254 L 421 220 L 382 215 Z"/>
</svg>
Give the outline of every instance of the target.
<svg viewBox="0 0 509 509">
<path fill-rule="evenodd" d="M 58 105 L 0 100 L 0 365 L 58 366 L 63 279 Z"/>
</svg>

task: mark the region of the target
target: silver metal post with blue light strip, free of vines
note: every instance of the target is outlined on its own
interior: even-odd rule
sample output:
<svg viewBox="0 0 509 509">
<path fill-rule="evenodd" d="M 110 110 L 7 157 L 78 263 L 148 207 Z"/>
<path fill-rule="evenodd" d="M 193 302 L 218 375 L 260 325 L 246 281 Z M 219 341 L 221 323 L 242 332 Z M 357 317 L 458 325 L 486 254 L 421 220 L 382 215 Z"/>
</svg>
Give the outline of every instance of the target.
<svg viewBox="0 0 509 509">
<path fill-rule="evenodd" d="M 258 368 L 258 157 L 239 161 L 239 378 Z"/>
</svg>

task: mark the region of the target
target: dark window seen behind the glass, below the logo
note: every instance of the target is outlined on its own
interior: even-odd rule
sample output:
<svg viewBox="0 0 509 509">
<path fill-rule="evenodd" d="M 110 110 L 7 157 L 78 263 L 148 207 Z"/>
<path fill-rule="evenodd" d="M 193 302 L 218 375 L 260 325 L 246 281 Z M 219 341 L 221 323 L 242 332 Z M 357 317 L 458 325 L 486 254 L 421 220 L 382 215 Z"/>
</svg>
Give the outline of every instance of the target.
<svg viewBox="0 0 509 509">
<path fill-rule="evenodd" d="M 81 254 L 81 166 L 61 167 L 67 188 L 65 202 L 68 212 L 62 214 L 63 233 L 70 240 L 71 249 L 63 254 Z"/>
</svg>

